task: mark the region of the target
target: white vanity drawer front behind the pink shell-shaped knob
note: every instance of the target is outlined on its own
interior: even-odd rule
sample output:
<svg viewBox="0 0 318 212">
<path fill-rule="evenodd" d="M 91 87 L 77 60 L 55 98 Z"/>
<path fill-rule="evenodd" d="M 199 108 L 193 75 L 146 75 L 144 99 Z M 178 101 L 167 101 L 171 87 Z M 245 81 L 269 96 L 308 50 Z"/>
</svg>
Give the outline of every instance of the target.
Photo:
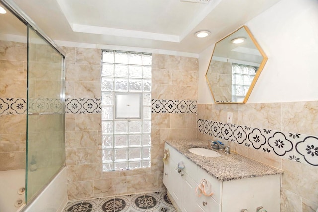
<svg viewBox="0 0 318 212">
<path fill-rule="evenodd" d="M 222 182 L 218 181 L 217 179 L 215 179 L 214 177 L 212 177 L 210 174 L 208 174 L 206 171 L 204 171 L 201 168 L 198 168 L 197 170 L 198 173 L 198 178 L 199 180 L 197 181 L 198 184 L 200 183 L 200 181 L 202 179 L 206 179 L 207 181 L 209 181 L 211 183 L 211 187 L 212 187 L 212 192 L 213 195 L 211 196 L 213 199 L 215 199 L 218 203 L 222 203 L 221 201 L 221 197 L 222 197 Z"/>
</svg>

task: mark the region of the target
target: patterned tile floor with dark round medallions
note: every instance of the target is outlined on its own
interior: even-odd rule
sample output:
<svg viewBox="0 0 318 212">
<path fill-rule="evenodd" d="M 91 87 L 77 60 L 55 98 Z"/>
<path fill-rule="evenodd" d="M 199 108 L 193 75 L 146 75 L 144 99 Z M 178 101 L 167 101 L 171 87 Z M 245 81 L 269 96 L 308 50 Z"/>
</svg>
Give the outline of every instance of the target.
<svg viewBox="0 0 318 212">
<path fill-rule="evenodd" d="M 70 201 L 63 212 L 176 212 L 167 192 Z"/>
</svg>

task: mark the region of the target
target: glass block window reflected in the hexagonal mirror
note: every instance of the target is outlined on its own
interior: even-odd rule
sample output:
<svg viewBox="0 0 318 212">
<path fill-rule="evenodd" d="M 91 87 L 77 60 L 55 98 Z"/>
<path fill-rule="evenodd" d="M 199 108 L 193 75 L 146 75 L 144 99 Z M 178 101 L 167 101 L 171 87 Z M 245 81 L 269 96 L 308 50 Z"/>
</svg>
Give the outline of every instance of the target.
<svg viewBox="0 0 318 212">
<path fill-rule="evenodd" d="M 258 67 L 232 63 L 232 102 L 244 100 Z"/>
</svg>

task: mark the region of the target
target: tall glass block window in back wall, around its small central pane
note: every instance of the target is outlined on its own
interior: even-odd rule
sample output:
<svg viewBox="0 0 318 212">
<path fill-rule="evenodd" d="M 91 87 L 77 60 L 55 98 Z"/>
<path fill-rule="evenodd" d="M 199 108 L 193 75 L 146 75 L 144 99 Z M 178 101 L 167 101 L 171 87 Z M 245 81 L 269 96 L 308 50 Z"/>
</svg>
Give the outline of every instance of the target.
<svg viewBox="0 0 318 212">
<path fill-rule="evenodd" d="M 102 51 L 103 171 L 150 167 L 150 53 Z M 115 118 L 116 95 L 140 94 L 141 118 Z"/>
</svg>

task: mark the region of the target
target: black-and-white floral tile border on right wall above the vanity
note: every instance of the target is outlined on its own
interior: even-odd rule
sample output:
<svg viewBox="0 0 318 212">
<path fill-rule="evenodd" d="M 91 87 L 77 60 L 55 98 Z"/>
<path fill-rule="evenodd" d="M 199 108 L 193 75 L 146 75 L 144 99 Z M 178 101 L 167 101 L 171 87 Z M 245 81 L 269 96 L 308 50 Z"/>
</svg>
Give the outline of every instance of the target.
<svg viewBox="0 0 318 212">
<path fill-rule="evenodd" d="M 198 119 L 203 134 L 274 154 L 296 162 L 318 166 L 318 137 L 299 133 L 252 128 Z"/>
</svg>

